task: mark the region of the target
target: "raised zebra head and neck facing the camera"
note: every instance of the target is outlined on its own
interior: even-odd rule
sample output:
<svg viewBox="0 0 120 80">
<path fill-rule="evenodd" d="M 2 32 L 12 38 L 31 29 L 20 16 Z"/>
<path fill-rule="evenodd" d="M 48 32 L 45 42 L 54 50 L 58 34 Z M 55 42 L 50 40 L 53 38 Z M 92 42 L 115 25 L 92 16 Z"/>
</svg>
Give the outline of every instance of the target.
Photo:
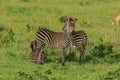
<svg viewBox="0 0 120 80">
<path fill-rule="evenodd" d="M 62 30 L 69 36 L 75 30 L 75 22 L 77 19 L 68 17 Z"/>
</svg>

